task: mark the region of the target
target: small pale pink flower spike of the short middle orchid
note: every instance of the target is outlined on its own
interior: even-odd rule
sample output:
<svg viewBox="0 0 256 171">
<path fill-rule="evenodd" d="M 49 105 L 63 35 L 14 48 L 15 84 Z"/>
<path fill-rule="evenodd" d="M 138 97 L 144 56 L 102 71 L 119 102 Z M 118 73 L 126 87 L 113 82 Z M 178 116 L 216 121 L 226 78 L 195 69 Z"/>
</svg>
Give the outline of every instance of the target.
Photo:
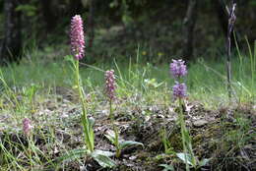
<svg viewBox="0 0 256 171">
<path fill-rule="evenodd" d="M 115 91 L 115 77 L 114 71 L 109 70 L 105 72 L 105 93 L 109 100 L 114 99 L 114 91 Z"/>
</svg>

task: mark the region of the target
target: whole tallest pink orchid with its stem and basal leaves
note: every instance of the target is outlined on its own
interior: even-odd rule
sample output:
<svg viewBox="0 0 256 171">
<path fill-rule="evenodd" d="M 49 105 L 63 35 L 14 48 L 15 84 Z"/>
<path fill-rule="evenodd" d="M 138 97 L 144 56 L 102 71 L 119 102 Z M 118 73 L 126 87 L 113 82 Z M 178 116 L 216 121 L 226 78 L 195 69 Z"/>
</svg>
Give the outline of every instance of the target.
<svg viewBox="0 0 256 171">
<path fill-rule="evenodd" d="M 59 158 L 59 161 L 64 161 L 66 158 L 81 157 L 82 154 L 90 156 L 96 160 L 96 162 L 102 167 L 114 167 L 115 162 L 109 158 L 112 155 L 110 151 L 103 151 L 95 149 L 95 120 L 88 118 L 88 104 L 85 96 L 85 90 L 83 88 L 83 82 L 80 77 L 80 61 L 85 56 L 85 38 L 83 30 L 83 21 L 80 15 L 76 15 L 71 20 L 71 54 L 73 58 L 69 58 L 74 67 L 75 85 L 79 92 L 79 98 L 82 105 L 81 121 L 83 125 L 84 141 L 86 148 L 80 148 L 68 151 L 66 155 Z M 110 83 L 110 81 L 109 81 Z M 112 93 L 109 93 L 112 94 Z M 112 95 L 113 96 L 113 95 Z M 111 96 L 111 98 L 112 98 Z"/>
</svg>

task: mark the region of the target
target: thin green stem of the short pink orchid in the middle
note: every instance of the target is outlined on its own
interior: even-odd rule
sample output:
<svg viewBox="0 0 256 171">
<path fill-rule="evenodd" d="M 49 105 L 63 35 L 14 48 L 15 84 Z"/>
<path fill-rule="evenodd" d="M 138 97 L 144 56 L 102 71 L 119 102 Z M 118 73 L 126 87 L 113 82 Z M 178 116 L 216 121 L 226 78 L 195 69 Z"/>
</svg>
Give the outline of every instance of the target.
<svg viewBox="0 0 256 171">
<path fill-rule="evenodd" d="M 110 122 L 111 122 L 111 125 L 113 127 L 113 130 L 114 130 L 114 144 L 115 144 L 115 147 L 116 147 L 115 156 L 118 158 L 121 155 L 121 149 L 120 149 L 119 140 L 118 140 L 119 139 L 118 131 L 117 131 L 116 126 L 114 125 L 112 99 L 109 99 L 109 118 L 110 118 Z"/>
</svg>

